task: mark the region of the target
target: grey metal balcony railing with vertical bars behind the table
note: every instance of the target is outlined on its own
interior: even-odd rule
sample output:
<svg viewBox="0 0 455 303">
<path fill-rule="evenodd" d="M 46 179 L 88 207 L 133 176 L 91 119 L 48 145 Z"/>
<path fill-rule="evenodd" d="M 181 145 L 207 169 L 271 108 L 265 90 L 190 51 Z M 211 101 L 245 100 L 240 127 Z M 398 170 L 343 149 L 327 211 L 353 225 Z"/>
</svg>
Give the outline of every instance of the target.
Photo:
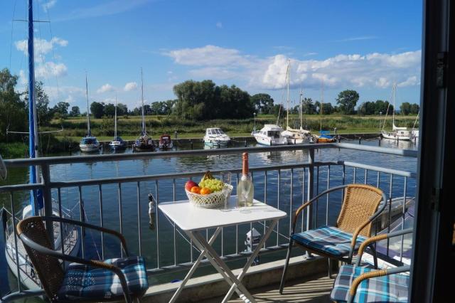
<svg viewBox="0 0 455 303">
<path fill-rule="evenodd" d="M 365 183 L 373 184 L 382 188 L 383 191 L 387 193 L 390 197 L 390 208 L 389 216 L 387 219 L 387 225 L 390 226 L 392 221 L 392 209 L 391 209 L 391 198 L 392 196 L 397 196 L 396 191 L 394 191 L 394 185 L 397 182 L 397 179 L 401 178 L 400 189 L 402 189 L 402 220 L 405 220 L 405 211 L 407 206 L 407 194 L 410 192 L 409 180 L 415 180 L 416 174 L 409 171 L 401 171 L 398 169 L 388 169 L 381 166 L 372 166 L 368 164 L 360 164 L 351 161 L 316 161 L 315 159 L 315 150 L 316 149 L 350 149 L 350 150 L 359 150 L 359 151 L 370 151 L 373 153 L 380 154 L 391 154 L 397 156 L 405 157 L 417 157 L 417 151 L 404 150 L 404 149 L 390 149 L 383 147 L 369 147 L 365 145 L 356 145 L 356 144 L 299 144 L 299 145 L 287 145 L 287 146 L 277 146 L 277 147 L 245 147 L 245 148 L 231 148 L 231 149 L 210 149 L 210 150 L 191 150 L 191 151 L 167 151 L 162 153 L 140 153 L 140 154 L 105 154 L 105 155 L 92 155 L 92 156 L 58 156 L 58 157 L 47 157 L 47 158 L 38 158 L 38 159 L 13 159 L 6 160 L 6 166 L 8 169 L 14 169 L 17 167 L 28 167 L 31 165 L 39 166 L 41 169 L 41 184 L 14 184 L 7 186 L 0 186 L 0 195 L 9 195 L 9 200 L 11 201 L 10 211 L 14 213 L 14 194 L 17 192 L 27 192 L 31 190 L 40 189 L 43 192 L 44 199 L 44 215 L 52 216 L 53 207 L 52 201 L 53 196 L 58 201 L 60 206 L 63 203 L 61 192 L 63 190 L 68 190 L 68 188 L 75 188 L 77 193 L 78 202 L 79 202 L 79 215 L 80 220 L 86 220 L 87 210 L 84 208 L 83 203 L 83 189 L 90 188 L 95 186 L 97 188 L 97 206 L 95 211 L 97 215 L 91 213 L 92 218 L 97 219 L 95 224 L 105 226 L 107 224 L 107 218 L 105 218 L 106 206 L 103 201 L 103 186 L 114 186 L 115 191 L 117 191 L 117 214 L 118 226 L 117 229 L 120 233 L 129 233 L 131 235 L 136 235 L 134 237 L 128 237 L 130 242 L 137 243 L 137 247 L 131 249 L 132 251 L 137 252 L 139 255 L 154 255 L 154 257 L 149 257 L 153 266 L 148 266 L 147 271 L 149 274 L 159 273 L 159 272 L 176 272 L 184 270 L 188 267 L 191 267 L 193 258 L 193 251 L 197 250 L 193 247 L 191 240 L 186 238 L 183 233 L 171 222 L 167 222 L 167 218 L 164 217 L 156 209 L 153 213 L 153 216 L 149 218 L 154 220 L 155 230 L 152 230 L 146 234 L 146 239 L 144 239 L 144 226 L 146 222 L 146 212 L 144 208 L 148 208 L 148 201 L 144 199 L 144 191 L 142 191 L 142 184 L 153 184 L 154 185 L 154 194 L 157 203 L 164 202 L 160 196 L 160 184 L 165 182 L 170 182 L 172 191 L 167 195 L 167 201 L 176 201 L 178 193 L 176 191 L 176 186 L 178 182 L 182 179 L 193 178 L 196 176 L 201 176 L 205 171 L 197 172 L 187 172 L 187 173 L 172 173 L 172 174 L 153 174 L 153 175 L 140 175 L 140 176 L 124 176 L 124 177 L 112 177 L 112 178 L 102 178 L 102 179 L 82 179 L 76 181 L 55 181 L 51 180 L 50 177 L 50 166 L 58 166 L 60 164 L 75 164 L 75 163 L 93 163 L 93 162 L 105 162 L 105 161 L 131 161 L 131 160 L 141 160 L 141 159 L 158 159 L 158 158 L 170 158 L 170 157 L 185 157 L 185 156 L 214 156 L 214 155 L 224 155 L 224 154 L 241 154 L 242 152 L 253 153 L 264 153 L 264 152 L 284 152 L 284 151 L 307 151 L 308 152 L 308 161 L 304 163 L 294 163 L 294 164 L 280 164 L 280 165 L 268 165 L 268 166 L 257 166 L 251 167 L 250 171 L 252 172 L 252 177 L 255 182 L 255 198 L 262 199 L 264 203 L 272 203 L 273 206 L 287 211 L 289 214 L 288 218 L 280 220 L 279 224 L 274 230 L 274 235 L 276 239 L 270 237 L 267 241 L 267 244 L 264 243 L 261 253 L 265 252 L 276 252 L 279 250 L 284 250 L 287 247 L 289 242 L 289 232 L 291 228 L 291 214 L 296 208 L 298 208 L 301 203 L 309 200 L 315 194 L 323 191 L 326 188 L 331 186 L 336 186 L 338 184 L 345 183 Z M 213 174 L 220 173 L 221 170 L 212 171 Z M 223 169 L 223 171 L 231 171 L 233 176 L 238 176 L 241 172 L 240 168 L 237 169 Z M 359 171 L 363 171 L 363 176 L 359 176 Z M 334 176 L 336 174 L 336 176 Z M 375 174 L 375 179 L 372 181 L 371 174 Z M 296 181 L 296 175 L 298 182 Z M 388 181 L 385 181 L 387 176 Z M 276 182 L 276 197 L 270 199 L 269 192 L 271 186 Z M 401 183 L 402 182 L 402 183 Z M 296 187 L 299 186 L 298 188 Z M 136 197 L 128 198 L 127 201 L 122 195 L 122 190 L 124 188 L 129 188 L 134 186 L 136 189 Z M 153 187 L 153 186 L 152 186 Z M 259 190 L 257 190 L 259 189 Z M 387 189 L 387 191 L 386 191 Z M 415 188 L 412 188 L 411 191 L 414 191 Z M 298 193 L 297 193 L 298 192 Z M 261 194 L 261 196 L 259 196 Z M 321 225 L 321 223 L 328 224 L 331 220 L 329 214 L 329 196 L 326 197 L 326 201 L 317 201 L 314 207 L 308 208 L 306 213 L 302 213 L 301 223 L 299 228 L 301 231 L 309 230 L 316 226 Z M 340 198 L 341 197 L 336 197 Z M 299 201 L 296 201 L 296 200 Z M 132 200 L 135 200 L 134 202 Z M 273 200 L 273 201 L 271 201 Z M 325 202 L 325 203 L 323 203 Z M 93 205 L 92 205 L 93 206 Z M 124 224 L 124 208 L 128 206 L 129 208 L 136 208 L 137 212 L 137 224 Z M 93 206 L 94 207 L 94 206 Z M 113 211 L 114 204 L 109 203 L 109 211 L 111 215 Z M 285 208 L 285 209 L 284 209 Z M 338 209 L 333 210 L 334 213 L 338 213 Z M 112 215 L 113 216 L 113 215 Z M 133 221 L 134 220 L 129 220 Z M 163 225 L 163 227 L 161 227 Z M 167 227 L 166 227 L 167 225 Z M 404 224 L 403 224 L 404 225 Z M 262 226 L 265 230 L 266 225 L 264 223 L 255 223 L 255 226 Z M 53 225 L 49 225 L 48 233 L 53 238 Z M 237 225 L 235 228 L 228 229 L 223 228 L 221 235 L 221 243 L 218 247 L 220 250 L 220 255 L 223 256 L 226 260 L 236 260 L 242 257 L 249 255 L 249 252 L 241 250 L 240 248 L 240 233 L 242 230 L 251 230 L 253 228 L 252 224 L 247 226 Z M 133 232 L 133 229 L 136 232 Z M 15 229 L 14 229 L 15 230 Z M 15 233 L 15 231 L 14 231 Z M 161 235 L 162 234 L 162 235 Z M 207 237 L 210 234 L 210 230 L 207 230 Z M 61 235 L 61 233 L 60 233 Z M 160 237 L 161 235 L 161 237 Z M 110 250 L 117 250 L 117 247 L 108 245 L 109 248 L 106 248 L 107 239 L 101 233 L 99 237 L 94 235 L 86 235 L 83 230 L 80 230 L 81 236 L 81 253 L 85 257 L 87 255 L 87 245 L 94 244 L 99 242 L 101 246 L 100 258 L 105 258 L 106 255 L 109 255 Z M 165 238 L 165 240 L 163 240 Z M 234 238 L 234 239 L 232 239 Z M 16 234 L 14 240 L 18 241 Z M 90 242 L 91 241 L 91 242 Z M 229 242 L 227 242 L 229 241 Z M 228 253 L 227 244 L 235 241 L 235 245 L 230 245 L 233 252 Z M 144 244 L 146 242 L 146 244 Z M 62 241 L 63 243 L 63 241 Z M 185 244 L 185 248 L 182 246 L 182 243 Z M 92 245 L 90 245 L 92 248 Z M 171 252 L 169 252 L 171 248 Z M 403 250 L 403 245 L 401 247 Z M 63 248 L 62 248 L 63 250 Z M 109 250 L 109 251 L 107 251 Z M 166 251 L 166 260 L 161 260 L 161 256 Z M 189 250 L 189 252 L 188 252 Z M 122 253 L 122 250 L 117 250 Z M 185 251 L 185 253 L 183 253 Z M 3 252 L 0 252 L 3 253 Z M 88 252 L 89 254 L 92 252 Z M 181 256 L 183 255 L 183 257 Z M 171 256 L 171 257 L 169 257 Z M 16 255 L 17 260 L 17 255 Z M 148 265 L 150 262 L 148 262 Z M 18 292 L 14 295 L 9 295 L 9 297 L 2 298 L 3 301 L 11 299 L 11 297 L 17 297 L 17 295 L 32 295 L 33 292 L 26 292 L 21 287 L 21 280 L 18 276 Z"/>
</svg>

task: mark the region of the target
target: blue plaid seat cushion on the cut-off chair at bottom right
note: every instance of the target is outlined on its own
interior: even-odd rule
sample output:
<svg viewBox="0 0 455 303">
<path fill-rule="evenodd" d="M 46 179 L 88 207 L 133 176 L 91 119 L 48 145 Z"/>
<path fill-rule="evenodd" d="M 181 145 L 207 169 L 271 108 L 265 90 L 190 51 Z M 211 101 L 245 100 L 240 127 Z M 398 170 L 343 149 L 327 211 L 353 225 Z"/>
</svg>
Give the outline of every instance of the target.
<svg viewBox="0 0 455 303">
<path fill-rule="evenodd" d="M 336 276 L 330 297 L 335 302 L 347 302 L 351 283 L 356 277 L 373 269 L 343 265 Z M 385 275 L 363 280 L 358 285 L 354 302 L 407 302 L 408 275 Z"/>
</svg>

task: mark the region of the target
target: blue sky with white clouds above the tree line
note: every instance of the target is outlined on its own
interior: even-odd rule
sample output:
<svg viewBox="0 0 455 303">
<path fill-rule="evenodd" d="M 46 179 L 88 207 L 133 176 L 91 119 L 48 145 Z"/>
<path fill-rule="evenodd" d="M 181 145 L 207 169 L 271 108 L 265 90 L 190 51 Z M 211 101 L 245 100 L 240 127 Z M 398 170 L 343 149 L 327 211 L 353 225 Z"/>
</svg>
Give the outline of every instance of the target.
<svg viewBox="0 0 455 303">
<path fill-rule="evenodd" d="M 26 0 L 2 1 L 0 68 L 27 83 Z M 291 105 L 304 97 L 336 105 L 338 92 L 361 102 L 419 103 L 422 2 L 310 0 L 36 0 L 36 80 L 50 105 L 127 104 L 175 99 L 173 85 L 213 80 Z M 322 88 L 323 87 L 323 94 Z"/>
</svg>

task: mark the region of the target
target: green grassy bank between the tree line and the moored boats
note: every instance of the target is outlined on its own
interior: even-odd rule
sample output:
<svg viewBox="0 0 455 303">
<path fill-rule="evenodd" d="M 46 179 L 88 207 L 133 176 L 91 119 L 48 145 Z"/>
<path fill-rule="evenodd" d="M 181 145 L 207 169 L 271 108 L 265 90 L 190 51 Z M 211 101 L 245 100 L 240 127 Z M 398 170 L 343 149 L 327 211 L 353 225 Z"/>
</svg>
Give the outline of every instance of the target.
<svg viewBox="0 0 455 303">
<path fill-rule="evenodd" d="M 395 117 L 397 126 L 412 127 L 415 117 Z M 304 117 L 304 126 L 313 131 L 319 131 L 321 118 L 319 115 L 308 115 Z M 174 134 L 178 132 L 178 137 L 200 137 L 202 138 L 205 129 L 208 127 L 220 127 L 231 136 L 250 134 L 254 127 L 255 120 L 251 119 L 217 119 L 210 121 L 189 121 L 176 119 L 170 116 L 147 116 L 147 132 L 156 137 L 164 133 Z M 379 132 L 383 117 L 380 116 L 357 116 L 357 115 L 326 115 L 322 117 L 322 128 L 330 130 L 336 127 L 339 133 L 355 132 Z M 262 128 L 264 124 L 276 124 L 277 118 L 272 115 L 259 115 L 256 118 L 256 127 Z M 279 124 L 285 125 L 286 122 L 280 119 Z M 299 117 L 289 116 L 291 127 L 299 127 Z M 86 121 L 84 117 L 76 117 L 65 120 L 54 120 L 52 125 L 55 129 L 60 125 L 65 129 L 59 133 L 59 137 L 80 138 L 85 136 Z M 100 138 L 110 139 L 114 135 L 114 119 L 90 119 L 92 134 Z M 125 139 L 134 139 L 138 136 L 141 129 L 141 117 L 119 117 L 118 132 Z M 392 128 L 392 119 L 387 120 L 387 129 Z"/>
</svg>

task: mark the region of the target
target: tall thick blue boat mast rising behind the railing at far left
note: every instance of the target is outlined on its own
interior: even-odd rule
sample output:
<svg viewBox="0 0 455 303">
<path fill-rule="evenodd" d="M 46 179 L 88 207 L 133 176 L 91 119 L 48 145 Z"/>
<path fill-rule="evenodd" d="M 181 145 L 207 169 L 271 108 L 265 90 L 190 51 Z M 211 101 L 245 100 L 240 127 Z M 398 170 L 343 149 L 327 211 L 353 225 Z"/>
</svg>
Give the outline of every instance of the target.
<svg viewBox="0 0 455 303">
<path fill-rule="evenodd" d="M 30 158 L 38 157 L 38 122 L 36 120 L 35 95 L 35 53 L 33 50 L 33 1 L 28 0 L 28 153 Z M 30 184 L 40 179 L 36 166 L 30 166 Z M 35 199 L 36 198 L 36 199 Z M 41 191 L 31 191 L 32 213 L 37 215 L 43 208 Z M 13 214 L 14 215 L 14 214 Z"/>
</svg>

